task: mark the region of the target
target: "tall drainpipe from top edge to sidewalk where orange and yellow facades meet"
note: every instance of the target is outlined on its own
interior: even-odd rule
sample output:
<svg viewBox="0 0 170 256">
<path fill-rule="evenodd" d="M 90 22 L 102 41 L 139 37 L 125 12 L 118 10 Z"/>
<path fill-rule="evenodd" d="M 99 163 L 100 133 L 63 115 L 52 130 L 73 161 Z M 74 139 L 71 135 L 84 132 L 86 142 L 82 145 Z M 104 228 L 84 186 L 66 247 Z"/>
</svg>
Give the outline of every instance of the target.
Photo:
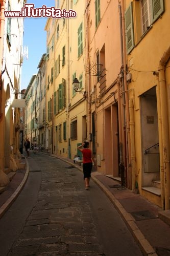
<svg viewBox="0 0 170 256">
<path fill-rule="evenodd" d="M 124 0 L 121 0 L 122 7 L 122 37 L 123 37 L 123 68 L 124 68 L 124 87 L 125 87 L 125 111 L 126 111 L 126 133 L 127 133 L 127 187 L 134 190 L 135 183 L 132 184 L 132 167 L 131 167 L 131 144 L 130 144 L 130 125 L 129 125 L 129 105 L 128 105 L 128 86 L 127 86 L 127 59 L 126 59 L 126 34 L 125 34 L 125 6 Z"/>
</svg>

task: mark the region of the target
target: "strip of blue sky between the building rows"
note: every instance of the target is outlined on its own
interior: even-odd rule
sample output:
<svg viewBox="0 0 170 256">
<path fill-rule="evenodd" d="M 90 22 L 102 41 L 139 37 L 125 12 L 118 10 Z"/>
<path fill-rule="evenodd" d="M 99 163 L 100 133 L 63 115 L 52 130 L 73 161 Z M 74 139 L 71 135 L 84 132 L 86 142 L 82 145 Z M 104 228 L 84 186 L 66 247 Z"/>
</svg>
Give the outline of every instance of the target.
<svg viewBox="0 0 170 256">
<path fill-rule="evenodd" d="M 27 0 L 34 8 L 55 6 L 55 0 Z M 43 53 L 46 53 L 46 18 L 25 18 L 23 47 L 28 47 L 28 59 L 23 58 L 21 73 L 21 90 L 27 89 L 33 74 L 38 72 L 38 64 Z"/>
</svg>

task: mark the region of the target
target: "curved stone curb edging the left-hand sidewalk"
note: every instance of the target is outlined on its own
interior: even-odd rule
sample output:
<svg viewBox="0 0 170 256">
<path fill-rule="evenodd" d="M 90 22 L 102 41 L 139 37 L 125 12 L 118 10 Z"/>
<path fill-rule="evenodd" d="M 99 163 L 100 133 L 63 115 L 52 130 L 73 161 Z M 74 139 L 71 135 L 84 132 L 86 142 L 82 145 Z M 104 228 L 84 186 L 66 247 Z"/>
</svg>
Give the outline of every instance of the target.
<svg viewBox="0 0 170 256">
<path fill-rule="evenodd" d="M 9 207 L 12 205 L 12 203 L 14 202 L 14 200 L 17 198 L 17 196 L 19 195 L 21 189 L 23 188 L 23 186 L 25 185 L 28 175 L 29 175 L 29 164 L 27 159 L 26 160 L 26 164 L 27 164 L 27 170 L 26 170 L 26 174 L 23 177 L 23 180 L 21 181 L 21 183 L 19 184 L 19 186 L 16 188 L 16 190 L 14 191 L 14 193 L 12 194 L 12 196 L 10 198 L 8 198 L 8 200 L 1 206 L 0 208 L 0 218 L 2 218 L 2 216 L 5 214 L 5 212 L 9 209 Z"/>
</svg>

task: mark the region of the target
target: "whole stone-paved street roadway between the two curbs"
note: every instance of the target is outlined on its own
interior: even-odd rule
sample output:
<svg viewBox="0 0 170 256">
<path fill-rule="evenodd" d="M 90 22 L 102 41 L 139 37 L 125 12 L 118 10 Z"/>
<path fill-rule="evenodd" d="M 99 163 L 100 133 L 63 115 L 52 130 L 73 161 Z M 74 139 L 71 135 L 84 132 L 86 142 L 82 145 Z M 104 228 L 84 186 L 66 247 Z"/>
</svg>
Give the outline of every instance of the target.
<svg viewBox="0 0 170 256">
<path fill-rule="evenodd" d="M 55 157 L 32 154 L 30 175 L 0 220 L 1 256 L 142 255 L 110 200 Z"/>
</svg>

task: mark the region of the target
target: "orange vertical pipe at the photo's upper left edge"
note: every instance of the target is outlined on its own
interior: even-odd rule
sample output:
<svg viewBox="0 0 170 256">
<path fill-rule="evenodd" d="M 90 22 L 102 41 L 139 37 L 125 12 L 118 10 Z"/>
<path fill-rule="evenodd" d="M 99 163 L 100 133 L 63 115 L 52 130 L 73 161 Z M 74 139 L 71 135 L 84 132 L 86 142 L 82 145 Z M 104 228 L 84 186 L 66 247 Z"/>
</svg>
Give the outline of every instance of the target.
<svg viewBox="0 0 170 256">
<path fill-rule="evenodd" d="M 1 16 L 0 16 L 0 122 L 3 119 L 3 113 L 2 113 L 2 66 L 3 66 L 3 50 L 4 50 L 4 27 L 5 27 L 5 6 L 6 6 L 6 0 L 1 0 Z"/>
</svg>

